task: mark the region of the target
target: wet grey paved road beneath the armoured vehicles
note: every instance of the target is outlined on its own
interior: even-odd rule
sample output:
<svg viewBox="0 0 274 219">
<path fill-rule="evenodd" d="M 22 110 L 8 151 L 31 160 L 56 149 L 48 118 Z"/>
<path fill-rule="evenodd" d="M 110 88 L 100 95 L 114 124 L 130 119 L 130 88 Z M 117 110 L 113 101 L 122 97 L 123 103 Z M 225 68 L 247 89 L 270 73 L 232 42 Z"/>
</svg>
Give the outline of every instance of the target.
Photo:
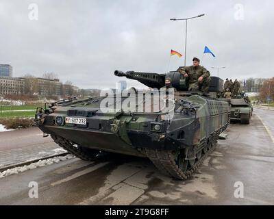
<svg viewBox="0 0 274 219">
<path fill-rule="evenodd" d="M 188 181 L 164 177 L 148 159 L 112 156 L 90 163 L 73 158 L 0 179 L 5 188 L 0 204 L 274 205 L 274 144 L 256 113 L 250 125 L 232 124 L 227 140 L 219 140 Z M 38 183 L 38 198 L 28 197 L 30 181 Z M 244 198 L 234 197 L 238 181 Z"/>
</svg>

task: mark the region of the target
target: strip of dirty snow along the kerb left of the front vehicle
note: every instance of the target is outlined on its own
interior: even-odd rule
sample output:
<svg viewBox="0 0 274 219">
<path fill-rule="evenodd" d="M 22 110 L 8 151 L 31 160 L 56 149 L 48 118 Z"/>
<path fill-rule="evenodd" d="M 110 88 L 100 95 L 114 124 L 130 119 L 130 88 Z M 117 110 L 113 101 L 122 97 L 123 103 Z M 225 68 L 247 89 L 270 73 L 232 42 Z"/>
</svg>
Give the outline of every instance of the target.
<svg viewBox="0 0 274 219">
<path fill-rule="evenodd" d="M 12 169 L 8 169 L 5 170 L 3 172 L 0 172 L 0 179 L 3 177 L 8 177 L 10 175 L 15 175 L 18 174 L 20 172 L 25 172 L 27 170 L 32 170 L 38 167 L 42 167 L 42 166 L 48 166 L 51 164 L 58 164 L 59 162 L 62 162 L 66 159 L 71 159 L 73 158 L 73 155 L 66 155 L 64 157 L 59 156 L 59 157 L 53 157 L 53 158 L 49 158 L 49 159 L 44 159 L 44 160 L 39 160 L 38 162 L 29 164 L 29 165 L 25 165 L 25 166 L 18 166 L 16 168 L 12 168 Z"/>
</svg>

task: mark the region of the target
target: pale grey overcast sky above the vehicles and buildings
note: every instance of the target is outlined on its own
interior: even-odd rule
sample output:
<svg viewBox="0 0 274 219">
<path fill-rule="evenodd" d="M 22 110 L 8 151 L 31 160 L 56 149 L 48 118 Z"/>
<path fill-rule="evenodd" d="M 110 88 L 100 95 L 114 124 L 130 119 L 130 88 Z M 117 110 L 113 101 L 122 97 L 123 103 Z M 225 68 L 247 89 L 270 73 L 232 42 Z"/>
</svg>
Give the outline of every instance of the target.
<svg viewBox="0 0 274 219">
<path fill-rule="evenodd" d="M 30 3 L 38 21 L 29 19 Z M 185 23 L 169 18 L 206 14 L 188 22 L 187 65 L 207 45 L 216 57 L 204 55 L 201 65 L 212 75 L 212 66 L 226 66 L 223 79 L 274 77 L 273 10 L 271 0 L 0 0 L 0 63 L 11 64 L 14 77 L 53 72 L 80 88 L 115 87 L 116 69 L 165 73 L 184 65 L 169 54 L 184 54 Z"/>
</svg>

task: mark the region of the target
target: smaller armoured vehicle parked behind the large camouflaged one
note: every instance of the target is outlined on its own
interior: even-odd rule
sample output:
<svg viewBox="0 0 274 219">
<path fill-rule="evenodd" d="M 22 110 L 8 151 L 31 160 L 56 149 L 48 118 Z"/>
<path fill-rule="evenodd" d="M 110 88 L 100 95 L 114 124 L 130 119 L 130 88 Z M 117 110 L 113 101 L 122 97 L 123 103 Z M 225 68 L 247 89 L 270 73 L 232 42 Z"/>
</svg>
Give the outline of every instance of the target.
<svg viewBox="0 0 274 219">
<path fill-rule="evenodd" d="M 244 94 L 238 94 L 236 98 L 230 100 L 231 120 L 240 120 L 242 124 L 249 124 L 253 113 L 253 107 L 249 97 Z"/>
</svg>

